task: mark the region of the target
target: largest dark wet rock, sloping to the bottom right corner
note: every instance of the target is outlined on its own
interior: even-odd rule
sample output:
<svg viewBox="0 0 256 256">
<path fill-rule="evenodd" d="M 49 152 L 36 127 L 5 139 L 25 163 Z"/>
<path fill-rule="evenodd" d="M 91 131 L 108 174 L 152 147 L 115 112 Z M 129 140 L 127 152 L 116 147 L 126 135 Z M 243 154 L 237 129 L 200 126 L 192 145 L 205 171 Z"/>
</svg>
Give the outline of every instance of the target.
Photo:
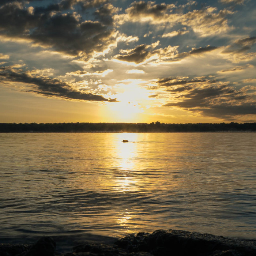
<svg viewBox="0 0 256 256">
<path fill-rule="evenodd" d="M 156 230 L 138 240 L 138 234 L 126 236 L 116 242 L 128 252 L 148 252 L 155 256 L 200 255 L 215 256 L 255 256 L 256 241 L 231 239 L 210 234 L 200 234 L 181 230 Z M 233 254 L 232 254 L 233 253 Z M 218 255 L 218 256 L 219 256 Z"/>
</svg>

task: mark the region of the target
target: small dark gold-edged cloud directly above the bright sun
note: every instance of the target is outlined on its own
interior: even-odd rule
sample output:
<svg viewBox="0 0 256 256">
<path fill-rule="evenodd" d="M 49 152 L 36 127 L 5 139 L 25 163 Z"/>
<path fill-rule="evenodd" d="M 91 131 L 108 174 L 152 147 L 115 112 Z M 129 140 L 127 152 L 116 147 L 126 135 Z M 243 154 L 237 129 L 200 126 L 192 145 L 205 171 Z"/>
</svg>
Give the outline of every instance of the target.
<svg viewBox="0 0 256 256">
<path fill-rule="evenodd" d="M 134 49 L 128 50 L 126 54 L 118 54 L 115 57 L 118 60 L 135 62 L 138 64 L 147 59 L 149 51 L 146 49 L 147 45 L 139 45 Z"/>
</svg>

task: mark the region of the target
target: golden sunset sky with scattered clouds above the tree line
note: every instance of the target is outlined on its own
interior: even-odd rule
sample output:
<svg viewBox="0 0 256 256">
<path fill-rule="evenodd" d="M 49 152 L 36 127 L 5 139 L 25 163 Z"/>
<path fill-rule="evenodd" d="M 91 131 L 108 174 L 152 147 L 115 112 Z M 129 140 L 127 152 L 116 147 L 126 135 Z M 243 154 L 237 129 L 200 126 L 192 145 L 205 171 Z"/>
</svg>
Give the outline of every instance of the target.
<svg viewBox="0 0 256 256">
<path fill-rule="evenodd" d="M 255 0 L 0 0 L 0 123 L 256 121 Z"/>
</svg>

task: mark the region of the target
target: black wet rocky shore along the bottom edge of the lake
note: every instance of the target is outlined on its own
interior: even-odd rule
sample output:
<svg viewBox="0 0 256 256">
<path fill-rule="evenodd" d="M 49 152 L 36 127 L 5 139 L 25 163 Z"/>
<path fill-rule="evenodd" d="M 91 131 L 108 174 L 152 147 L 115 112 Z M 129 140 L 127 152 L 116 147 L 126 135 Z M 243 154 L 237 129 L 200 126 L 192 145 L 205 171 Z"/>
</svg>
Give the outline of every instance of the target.
<svg viewBox="0 0 256 256">
<path fill-rule="evenodd" d="M 114 244 L 84 242 L 72 252 L 56 251 L 51 237 L 35 244 L 0 244 L 0 256 L 255 256 L 256 240 L 226 238 L 181 230 L 129 234 Z"/>
</svg>

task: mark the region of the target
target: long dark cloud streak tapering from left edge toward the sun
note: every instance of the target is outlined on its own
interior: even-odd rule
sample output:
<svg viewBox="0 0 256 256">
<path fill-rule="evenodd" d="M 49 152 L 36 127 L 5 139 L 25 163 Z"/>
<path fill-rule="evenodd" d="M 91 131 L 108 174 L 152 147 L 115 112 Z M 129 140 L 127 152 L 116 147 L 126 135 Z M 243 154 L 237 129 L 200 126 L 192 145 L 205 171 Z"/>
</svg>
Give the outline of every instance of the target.
<svg viewBox="0 0 256 256">
<path fill-rule="evenodd" d="M 32 76 L 28 71 L 25 72 L 22 70 L 12 69 L 11 67 L 2 67 L 0 69 L 0 80 L 29 84 L 34 87 L 34 89 L 27 90 L 27 92 L 33 92 L 50 97 L 82 101 L 116 101 L 116 99 L 106 99 L 101 95 L 83 93 L 82 91 L 74 90 L 69 84 L 58 79 Z"/>
</svg>

